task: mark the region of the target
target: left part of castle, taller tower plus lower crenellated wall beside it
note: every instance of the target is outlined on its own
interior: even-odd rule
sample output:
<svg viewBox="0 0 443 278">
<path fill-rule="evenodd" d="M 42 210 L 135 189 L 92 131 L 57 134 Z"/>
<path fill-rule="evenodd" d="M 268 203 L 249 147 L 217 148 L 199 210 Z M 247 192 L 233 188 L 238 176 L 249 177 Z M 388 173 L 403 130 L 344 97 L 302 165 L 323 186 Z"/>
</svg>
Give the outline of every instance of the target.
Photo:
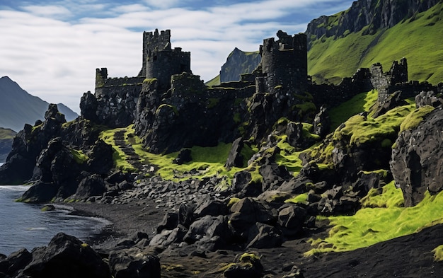
<svg viewBox="0 0 443 278">
<path fill-rule="evenodd" d="M 171 48 L 171 30 L 143 33 L 142 70 L 138 76 L 108 78 L 108 69 L 96 69 L 96 102 L 81 107 L 87 108 L 82 115 L 109 127 L 125 127 L 136 118 L 137 101 L 146 79 L 157 79 L 157 86 L 163 91 L 171 88 L 171 76 L 190 73 L 190 52 L 180 47 Z M 82 98 L 91 100 L 90 97 Z M 91 112 L 91 110 L 95 110 Z"/>
</svg>

